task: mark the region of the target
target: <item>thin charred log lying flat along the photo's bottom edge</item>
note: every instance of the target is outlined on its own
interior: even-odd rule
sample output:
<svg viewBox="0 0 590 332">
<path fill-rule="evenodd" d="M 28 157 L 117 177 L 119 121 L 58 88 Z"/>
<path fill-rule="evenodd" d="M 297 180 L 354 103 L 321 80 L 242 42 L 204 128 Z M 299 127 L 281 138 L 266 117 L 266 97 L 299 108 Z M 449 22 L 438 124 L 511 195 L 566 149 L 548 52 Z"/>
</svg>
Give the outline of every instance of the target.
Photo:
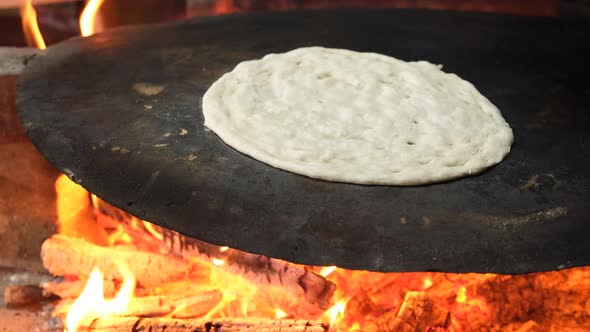
<svg viewBox="0 0 590 332">
<path fill-rule="evenodd" d="M 88 332 L 326 332 L 328 326 L 318 322 L 294 319 L 174 319 L 108 317 L 99 318 L 87 327 Z"/>
</svg>

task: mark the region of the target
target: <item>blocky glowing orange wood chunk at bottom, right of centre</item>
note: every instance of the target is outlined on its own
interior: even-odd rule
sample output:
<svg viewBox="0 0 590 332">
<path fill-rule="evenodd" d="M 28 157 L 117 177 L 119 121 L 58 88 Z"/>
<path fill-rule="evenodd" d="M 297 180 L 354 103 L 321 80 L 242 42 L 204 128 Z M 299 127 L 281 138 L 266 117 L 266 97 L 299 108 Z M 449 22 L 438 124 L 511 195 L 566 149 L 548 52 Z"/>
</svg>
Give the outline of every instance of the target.
<svg viewBox="0 0 590 332">
<path fill-rule="evenodd" d="M 434 328 L 446 329 L 451 314 L 438 306 L 424 292 L 407 292 L 395 316 L 386 313 L 377 322 L 379 331 L 420 332 Z"/>
</svg>

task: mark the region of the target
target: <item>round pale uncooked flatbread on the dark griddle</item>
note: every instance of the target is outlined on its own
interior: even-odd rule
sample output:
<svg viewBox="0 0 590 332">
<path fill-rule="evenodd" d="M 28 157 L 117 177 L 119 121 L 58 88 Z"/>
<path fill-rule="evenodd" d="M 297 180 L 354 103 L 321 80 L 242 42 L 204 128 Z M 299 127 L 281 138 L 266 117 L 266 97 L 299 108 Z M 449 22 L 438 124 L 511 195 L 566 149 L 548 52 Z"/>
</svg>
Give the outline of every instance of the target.
<svg viewBox="0 0 590 332">
<path fill-rule="evenodd" d="M 205 93 L 203 113 L 205 126 L 259 161 L 357 184 L 476 174 L 513 141 L 500 111 L 440 66 L 322 47 L 238 64 Z"/>
</svg>

